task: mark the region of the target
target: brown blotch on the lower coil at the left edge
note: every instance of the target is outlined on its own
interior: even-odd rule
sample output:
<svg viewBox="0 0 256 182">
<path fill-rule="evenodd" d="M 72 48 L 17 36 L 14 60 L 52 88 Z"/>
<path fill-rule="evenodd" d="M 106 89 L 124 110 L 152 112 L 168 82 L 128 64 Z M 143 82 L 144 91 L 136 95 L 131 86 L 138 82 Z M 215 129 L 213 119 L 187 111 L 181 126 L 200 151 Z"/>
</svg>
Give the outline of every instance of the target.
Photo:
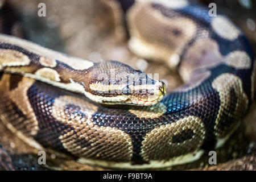
<svg viewBox="0 0 256 182">
<path fill-rule="evenodd" d="M 20 76 L 22 77 L 22 76 Z M 20 81 L 21 80 L 21 81 Z M 10 81 L 17 81 L 17 86 L 9 90 Z M 10 122 L 16 130 L 22 131 L 28 137 L 35 136 L 38 132 L 38 121 L 27 97 L 27 90 L 34 80 L 26 77 L 12 79 L 5 73 L 0 82 L 0 111 L 7 122 Z M 5 87 L 3 87 L 5 85 Z"/>
</svg>

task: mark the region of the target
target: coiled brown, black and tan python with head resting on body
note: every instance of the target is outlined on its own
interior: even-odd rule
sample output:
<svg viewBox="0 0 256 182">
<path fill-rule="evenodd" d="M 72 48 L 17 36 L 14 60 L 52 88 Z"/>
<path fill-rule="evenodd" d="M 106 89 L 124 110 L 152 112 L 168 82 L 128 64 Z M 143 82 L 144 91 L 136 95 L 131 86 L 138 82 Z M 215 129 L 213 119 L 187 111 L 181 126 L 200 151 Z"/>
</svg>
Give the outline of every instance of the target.
<svg viewBox="0 0 256 182">
<path fill-rule="evenodd" d="M 225 15 L 192 1 L 105 1 L 131 52 L 184 81 L 116 60 L 94 63 L 0 35 L 0 119 L 38 150 L 79 163 L 158 169 L 223 146 L 254 100 L 254 52 Z M 117 28 L 117 31 L 121 30 Z"/>
</svg>

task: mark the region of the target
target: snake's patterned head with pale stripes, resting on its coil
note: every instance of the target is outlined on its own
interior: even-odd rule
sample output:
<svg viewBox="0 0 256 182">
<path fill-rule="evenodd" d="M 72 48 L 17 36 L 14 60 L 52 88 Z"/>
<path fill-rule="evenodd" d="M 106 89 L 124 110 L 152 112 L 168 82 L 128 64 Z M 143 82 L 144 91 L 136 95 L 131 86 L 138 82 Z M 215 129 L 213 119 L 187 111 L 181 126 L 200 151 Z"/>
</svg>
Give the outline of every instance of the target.
<svg viewBox="0 0 256 182">
<path fill-rule="evenodd" d="M 86 72 L 85 96 L 100 104 L 150 106 L 166 94 L 166 85 L 118 61 L 95 63 Z"/>
</svg>

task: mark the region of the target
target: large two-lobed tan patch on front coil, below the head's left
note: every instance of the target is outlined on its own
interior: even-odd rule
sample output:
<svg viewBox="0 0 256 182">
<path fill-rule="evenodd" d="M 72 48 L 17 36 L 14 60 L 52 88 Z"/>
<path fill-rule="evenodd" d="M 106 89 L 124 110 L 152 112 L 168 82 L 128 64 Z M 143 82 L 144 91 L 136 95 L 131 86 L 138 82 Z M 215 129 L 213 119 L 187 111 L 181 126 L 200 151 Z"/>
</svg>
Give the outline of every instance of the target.
<svg viewBox="0 0 256 182">
<path fill-rule="evenodd" d="M 80 107 L 86 116 L 71 115 L 64 111 L 68 104 Z M 57 121 L 75 128 L 60 136 L 64 148 L 76 156 L 85 158 L 129 161 L 133 155 L 131 138 L 125 132 L 112 127 L 94 125 L 90 121 L 98 107 L 78 97 L 60 96 L 52 106 L 52 115 Z M 82 148 L 79 140 L 86 140 L 89 146 Z"/>
</svg>

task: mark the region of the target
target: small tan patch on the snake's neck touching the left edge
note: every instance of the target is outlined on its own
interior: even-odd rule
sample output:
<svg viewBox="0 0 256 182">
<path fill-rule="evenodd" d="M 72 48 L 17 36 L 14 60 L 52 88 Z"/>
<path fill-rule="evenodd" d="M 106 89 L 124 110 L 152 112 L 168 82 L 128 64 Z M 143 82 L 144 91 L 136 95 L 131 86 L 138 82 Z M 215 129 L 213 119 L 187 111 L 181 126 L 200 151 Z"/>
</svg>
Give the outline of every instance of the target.
<svg viewBox="0 0 256 182">
<path fill-rule="evenodd" d="M 0 67 L 23 66 L 30 64 L 28 56 L 11 49 L 0 49 Z"/>
</svg>

